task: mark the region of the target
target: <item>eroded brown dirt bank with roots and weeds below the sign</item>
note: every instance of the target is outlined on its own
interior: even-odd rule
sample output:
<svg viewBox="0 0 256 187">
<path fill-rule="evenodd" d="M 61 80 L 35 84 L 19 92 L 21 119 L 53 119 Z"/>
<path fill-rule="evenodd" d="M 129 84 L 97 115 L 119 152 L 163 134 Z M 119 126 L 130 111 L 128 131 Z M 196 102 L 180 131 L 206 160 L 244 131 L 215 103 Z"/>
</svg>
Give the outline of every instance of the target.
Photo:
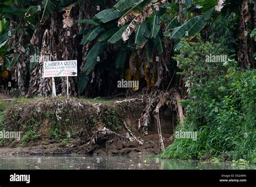
<svg viewBox="0 0 256 187">
<path fill-rule="evenodd" d="M 0 131 L 22 132 L 22 136 L 21 140 L 1 139 L 0 154 L 160 153 L 157 123 L 153 117 L 147 126 L 148 134 L 138 132 L 138 119 L 146 106 L 143 99 L 117 102 L 36 98 L 5 103 L 8 104 Z M 165 146 L 172 142 L 170 137 L 175 123 L 172 120 L 172 113 L 163 108 L 160 121 Z M 96 134 L 98 130 L 104 131 Z"/>
</svg>

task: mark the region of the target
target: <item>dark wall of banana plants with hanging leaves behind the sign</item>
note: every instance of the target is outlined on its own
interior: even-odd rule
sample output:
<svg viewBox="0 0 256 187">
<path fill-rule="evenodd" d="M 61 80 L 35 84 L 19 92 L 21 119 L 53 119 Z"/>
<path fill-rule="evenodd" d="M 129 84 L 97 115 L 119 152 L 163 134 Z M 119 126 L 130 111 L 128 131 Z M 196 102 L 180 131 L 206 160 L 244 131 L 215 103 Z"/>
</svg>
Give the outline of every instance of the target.
<svg viewBox="0 0 256 187">
<path fill-rule="evenodd" d="M 62 51 L 69 53 L 69 48 L 77 49 L 75 54 L 69 55 L 70 59 L 72 57 L 77 59 L 77 53 L 81 50 L 83 52 L 83 56 L 79 56 L 81 59 L 79 77 L 72 80 L 72 94 L 84 93 L 88 83 L 95 83 L 93 80 L 96 80 L 96 84 L 88 85 L 88 89 L 93 87 L 93 90 L 99 91 L 104 87 L 105 81 L 112 82 L 119 78 L 139 80 L 142 82 L 141 85 L 147 85 L 147 89 L 151 89 L 166 85 L 164 80 L 172 77 L 175 64 L 170 63 L 171 56 L 173 49 L 177 51 L 183 45 L 180 42 L 181 38 L 191 40 L 205 26 L 209 26 L 209 21 L 213 23 L 216 19 L 224 19 L 225 15 L 238 17 L 241 3 L 242 1 L 223 3 L 217 0 L 184 2 L 122 0 L 112 4 L 112 8 L 100 11 L 100 6 L 106 7 L 107 3 L 94 2 L 90 5 L 95 6 L 98 13 L 90 11 L 91 15 L 85 16 L 86 5 L 83 1 L 5 0 L 0 4 L 2 15 L 0 55 L 4 59 L 6 68 L 16 69 L 16 75 L 13 77 L 16 77 L 15 84 L 23 95 L 26 93 L 48 95 L 50 80 L 40 80 L 40 76 L 35 75 L 35 72 L 41 69 L 37 62 L 43 60 L 38 58 L 37 62 L 31 62 L 31 56 L 50 55 L 53 60 L 65 60 L 66 55 L 54 54 L 57 48 L 52 47 L 51 44 L 44 46 L 50 47 L 50 51 L 43 50 L 43 39 L 47 35 L 45 31 L 50 29 L 50 40 L 56 41 L 57 36 L 54 34 L 63 32 L 62 36 L 58 37 L 59 42 L 63 43 Z M 58 15 L 63 15 L 63 26 L 59 27 L 58 31 L 56 28 L 56 31 L 53 31 L 51 27 L 57 21 Z M 218 24 L 218 21 L 215 23 Z M 74 29 L 71 28 L 75 27 L 73 31 Z M 65 47 L 64 43 L 71 42 L 68 41 L 71 40 L 68 35 L 70 31 L 73 39 L 79 42 L 80 46 L 72 42 L 73 44 L 68 48 Z M 212 34 L 211 39 L 216 37 L 218 35 Z M 235 40 L 226 41 L 234 44 Z M 35 44 L 37 47 L 33 46 Z M 250 56 L 248 58 L 252 59 Z M 246 66 L 254 66 L 250 60 L 248 63 Z M 169 71 L 170 68 L 172 70 Z M 103 75 L 105 72 L 108 72 L 109 76 L 105 77 Z M 22 78 L 19 78 L 18 74 Z M 24 79 L 26 81 L 23 81 Z M 65 84 L 63 80 L 58 82 Z M 31 87 L 35 84 L 39 84 L 39 87 L 28 89 L 29 85 Z M 48 89 L 44 90 L 42 87 Z M 65 89 L 59 89 L 58 92 L 62 91 Z"/>
</svg>

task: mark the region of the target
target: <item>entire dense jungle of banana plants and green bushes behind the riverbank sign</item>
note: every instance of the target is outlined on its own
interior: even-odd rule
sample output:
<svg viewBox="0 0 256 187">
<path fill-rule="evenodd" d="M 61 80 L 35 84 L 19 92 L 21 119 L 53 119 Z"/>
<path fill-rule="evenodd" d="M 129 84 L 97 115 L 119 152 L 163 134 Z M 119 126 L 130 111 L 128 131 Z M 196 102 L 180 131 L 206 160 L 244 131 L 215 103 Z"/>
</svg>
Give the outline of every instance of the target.
<svg viewBox="0 0 256 187">
<path fill-rule="evenodd" d="M 49 139 L 97 129 L 100 136 L 95 124 L 113 139 L 121 128 L 130 129 L 122 111 L 136 109 L 138 116 L 127 124 L 136 124 L 133 138 L 142 145 L 155 130 L 160 157 L 255 163 L 255 44 L 253 0 L 1 0 L 1 97 L 17 99 L 0 102 L 0 130 L 24 131 L 22 146 L 40 139 L 39 127 L 49 121 L 56 121 Z M 65 98 L 65 77 L 55 78 L 58 99 L 48 97 L 52 82 L 43 77 L 43 62 L 60 60 L 78 62 L 78 76 L 69 79 L 72 101 Z M 120 80 L 139 81 L 139 89 L 118 88 Z M 87 106 L 79 98 L 103 104 Z M 115 102 L 118 108 L 106 105 L 117 98 L 124 99 Z M 38 106 L 48 122 L 32 113 Z M 65 107 L 75 111 L 72 119 Z M 197 132 L 197 140 L 177 138 L 179 131 Z"/>
</svg>

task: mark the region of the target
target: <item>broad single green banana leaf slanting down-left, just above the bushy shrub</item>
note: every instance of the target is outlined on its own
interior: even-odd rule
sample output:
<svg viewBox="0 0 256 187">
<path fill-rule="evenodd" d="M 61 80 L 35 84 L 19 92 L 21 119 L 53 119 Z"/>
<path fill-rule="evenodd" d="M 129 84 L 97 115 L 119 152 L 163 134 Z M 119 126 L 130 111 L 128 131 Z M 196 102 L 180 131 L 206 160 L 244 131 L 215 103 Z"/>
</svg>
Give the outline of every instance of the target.
<svg viewBox="0 0 256 187">
<path fill-rule="evenodd" d="M 185 24 L 176 27 L 170 33 L 171 39 L 178 40 L 180 37 L 183 37 L 187 33 L 187 37 L 191 37 L 198 32 L 200 32 L 206 25 L 206 20 L 211 17 L 214 8 L 208 10 L 205 15 L 196 16 L 188 20 Z"/>
</svg>

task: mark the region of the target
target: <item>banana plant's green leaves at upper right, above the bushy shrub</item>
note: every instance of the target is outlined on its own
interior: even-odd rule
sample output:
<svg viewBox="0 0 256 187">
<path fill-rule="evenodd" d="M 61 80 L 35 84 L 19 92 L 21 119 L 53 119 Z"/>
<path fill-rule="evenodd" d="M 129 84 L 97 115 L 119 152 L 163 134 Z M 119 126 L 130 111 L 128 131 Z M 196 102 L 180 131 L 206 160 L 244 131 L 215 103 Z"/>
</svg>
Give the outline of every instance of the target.
<svg viewBox="0 0 256 187">
<path fill-rule="evenodd" d="M 172 41 L 176 41 L 178 44 L 174 47 L 175 50 L 179 50 L 182 46 L 181 38 L 191 38 L 206 26 L 207 21 L 210 17 L 214 16 L 216 19 L 221 17 L 221 13 L 233 11 L 238 13 L 239 3 L 242 0 L 233 2 L 231 0 L 220 1 L 220 0 L 190 0 L 185 1 L 184 8 L 186 12 L 197 12 L 198 16 L 188 19 L 180 25 L 178 19 L 174 18 L 170 24 L 166 27 L 165 37 L 170 37 Z"/>
</svg>

